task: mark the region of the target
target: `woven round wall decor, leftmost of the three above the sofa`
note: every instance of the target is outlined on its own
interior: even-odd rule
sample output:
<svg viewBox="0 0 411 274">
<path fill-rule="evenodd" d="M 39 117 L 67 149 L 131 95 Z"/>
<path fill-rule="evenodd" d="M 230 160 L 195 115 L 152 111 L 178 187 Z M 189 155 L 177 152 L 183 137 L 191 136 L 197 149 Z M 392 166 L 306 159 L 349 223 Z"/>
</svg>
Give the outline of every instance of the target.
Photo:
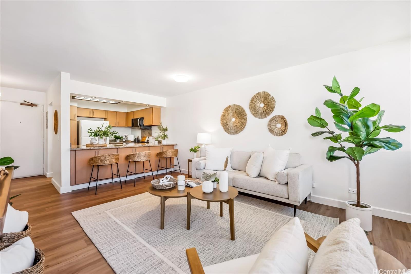
<svg viewBox="0 0 411 274">
<path fill-rule="evenodd" d="M 247 113 L 240 105 L 229 105 L 223 110 L 220 123 L 225 132 L 236 135 L 245 128 L 247 124 Z"/>
</svg>

